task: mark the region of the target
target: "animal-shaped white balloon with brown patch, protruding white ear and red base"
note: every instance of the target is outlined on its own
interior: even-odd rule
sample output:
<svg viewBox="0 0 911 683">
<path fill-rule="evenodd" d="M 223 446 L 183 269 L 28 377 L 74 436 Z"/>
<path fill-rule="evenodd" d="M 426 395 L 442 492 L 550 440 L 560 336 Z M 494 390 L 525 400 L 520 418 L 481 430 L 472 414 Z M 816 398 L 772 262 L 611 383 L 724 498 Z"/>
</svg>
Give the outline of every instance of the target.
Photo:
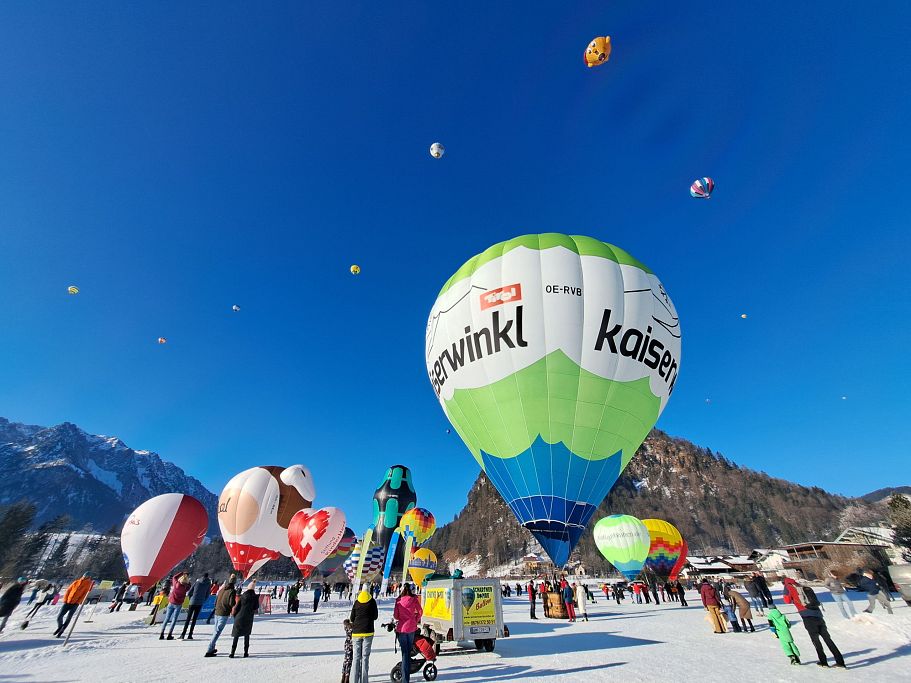
<svg viewBox="0 0 911 683">
<path fill-rule="evenodd" d="M 315 497 L 303 465 L 251 467 L 231 479 L 218 499 L 218 526 L 234 568 L 249 578 L 269 560 L 290 557 L 288 524 Z"/>
</svg>

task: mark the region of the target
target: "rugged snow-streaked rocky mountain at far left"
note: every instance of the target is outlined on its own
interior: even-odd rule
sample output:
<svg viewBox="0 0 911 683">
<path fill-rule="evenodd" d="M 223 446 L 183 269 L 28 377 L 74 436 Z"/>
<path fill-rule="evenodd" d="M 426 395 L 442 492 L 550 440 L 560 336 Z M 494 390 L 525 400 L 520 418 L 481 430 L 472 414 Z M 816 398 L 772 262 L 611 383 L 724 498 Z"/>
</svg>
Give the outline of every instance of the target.
<svg viewBox="0 0 911 683">
<path fill-rule="evenodd" d="M 36 525 L 65 513 L 73 528 L 104 532 L 153 496 L 187 493 L 206 506 L 210 530 L 218 528 L 218 498 L 197 479 L 156 453 L 69 422 L 45 428 L 0 417 L 0 471 L 0 505 L 31 501 Z"/>
</svg>

